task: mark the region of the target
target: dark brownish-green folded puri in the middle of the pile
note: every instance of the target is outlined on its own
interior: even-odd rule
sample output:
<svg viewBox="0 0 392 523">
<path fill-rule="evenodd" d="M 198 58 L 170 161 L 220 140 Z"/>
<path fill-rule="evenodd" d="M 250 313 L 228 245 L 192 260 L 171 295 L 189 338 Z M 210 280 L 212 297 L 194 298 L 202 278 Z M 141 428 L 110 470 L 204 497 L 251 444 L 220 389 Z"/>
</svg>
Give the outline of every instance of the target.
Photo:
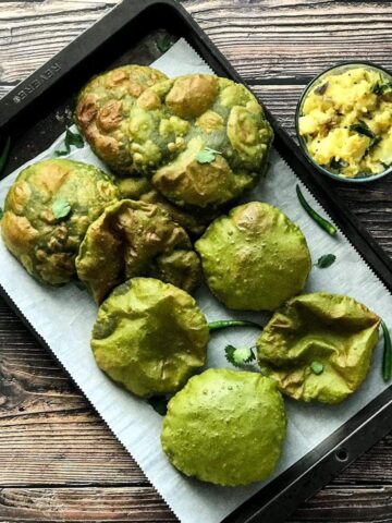
<svg viewBox="0 0 392 523">
<path fill-rule="evenodd" d="M 154 277 L 192 292 L 201 268 L 188 235 L 160 207 L 123 199 L 89 227 L 76 259 L 97 303 L 128 278 Z"/>
</svg>

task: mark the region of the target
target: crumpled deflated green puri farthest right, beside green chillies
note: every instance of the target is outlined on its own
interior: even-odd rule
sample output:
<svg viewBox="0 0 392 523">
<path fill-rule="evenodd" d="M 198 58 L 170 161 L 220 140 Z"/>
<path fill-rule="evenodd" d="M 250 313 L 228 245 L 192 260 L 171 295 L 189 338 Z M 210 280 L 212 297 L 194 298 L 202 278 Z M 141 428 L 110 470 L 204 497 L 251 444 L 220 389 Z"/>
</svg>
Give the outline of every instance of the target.
<svg viewBox="0 0 392 523">
<path fill-rule="evenodd" d="M 294 297 L 257 341 L 261 372 L 295 400 L 340 403 L 366 378 L 379 325 L 353 297 L 324 292 Z"/>
</svg>

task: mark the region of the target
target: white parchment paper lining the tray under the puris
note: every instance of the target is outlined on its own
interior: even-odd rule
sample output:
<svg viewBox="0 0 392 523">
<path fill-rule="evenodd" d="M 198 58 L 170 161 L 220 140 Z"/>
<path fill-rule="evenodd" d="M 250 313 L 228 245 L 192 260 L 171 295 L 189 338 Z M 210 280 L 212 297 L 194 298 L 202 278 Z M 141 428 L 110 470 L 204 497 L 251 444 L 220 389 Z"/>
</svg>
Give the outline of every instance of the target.
<svg viewBox="0 0 392 523">
<path fill-rule="evenodd" d="M 154 65 L 169 76 L 211 72 L 183 39 Z M 64 135 L 60 136 L 34 161 L 53 157 L 54 150 L 62 148 L 63 138 Z M 106 169 L 88 146 L 72 150 L 69 157 Z M 306 291 L 348 294 L 365 303 L 382 316 L 387 325 L 392 326 L 391 294 L 341 232 L 335 239 L 329 236 L 305 214 L 295 195 L 295 184 L 298 180 L 277 151 L 272 154 L 271 163 L 267 180 L 247 195 L 245 200 L 268 202 L 298 223 L 306 235 L 314 260 L 327 253 L 336 255 L 336 262 L 330 268 L 313 269 Z M 0 204 L 21 169 L 0 182 Z M 303 187 L 303 191 L 309 203 L 327 216 L 306 188 Z M 215 487 L 177 473 L 161 451 L 159 436 L 162 417 L 145 401 L 117 387 L 95 364 L 89 340 L 97 308 L 90 296 L 74 284 L 61 289 L 41 287 L 9 254 L 2 242 L 0 242 L 0 283 L 3 289 L 46 340 L 182 522 L 218 523 L 266 485 L 265 483 L 241 488 Z M 199 290 L 196 299 L 209 320 L 230 317 L 260 320 L 260 315 L 257 314 L 236 314 L 225 309 L 205 288 Z M 224 345 L 232 343 L 245 346 L 254 343 L 257 335 L 253 329 L 215 333 L 209 344 L 208 365 L 230 366 L 223 355 Z M 381 378 L 381 345 L 382 342 L 375 352 L 365 384 L 343 404 L 324 406 L 286 401 L 287 439 L 275 475 L 309 452 L 385 388 Z"/>
</svg>

